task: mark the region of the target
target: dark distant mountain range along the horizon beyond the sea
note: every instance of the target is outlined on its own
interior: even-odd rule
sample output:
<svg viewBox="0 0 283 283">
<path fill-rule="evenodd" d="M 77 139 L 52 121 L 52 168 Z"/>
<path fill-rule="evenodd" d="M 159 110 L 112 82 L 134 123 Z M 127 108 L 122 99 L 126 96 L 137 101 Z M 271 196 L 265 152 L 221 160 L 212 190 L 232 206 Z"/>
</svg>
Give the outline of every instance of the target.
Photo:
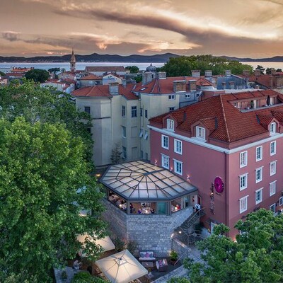
<svg viewBox="0 0 283 283">
<path fill-rule="evenodd" d="M 156 54 L 156 55 L 110 55 L 110 54 L 89 54 L 89 55 L 79 55 L 76 54 L 76 62 L 132 62 L 132 63 L 165 63 L 171 57 L 180 57 L 180 55 L 165 53 L 165 54 Z M 219 56 L 222 58 L 236 60 L 240 62 L 283 62 L 283 56 L 275 56 L 272 58 L 238 58 L 238 57 L 228 57 L 228 56 Z M 24 63 L 45 63 L 45 62 L 70 62 L 71 54 L 64 56 L 37 56 L 37 57 L 2 57 L 0 56 L 0 62 L 24 62 Z"/>
</svg>

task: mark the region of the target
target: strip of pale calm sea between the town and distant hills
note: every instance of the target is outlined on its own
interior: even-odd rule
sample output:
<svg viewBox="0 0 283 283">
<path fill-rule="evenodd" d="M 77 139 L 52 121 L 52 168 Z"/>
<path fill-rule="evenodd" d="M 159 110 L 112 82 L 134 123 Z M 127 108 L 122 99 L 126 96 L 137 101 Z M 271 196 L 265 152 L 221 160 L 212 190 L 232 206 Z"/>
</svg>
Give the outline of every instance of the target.
<svg viewBox="0 0 283 283">
<path fill-rule="evenodd" d="M 243 64 L 248 64 L 255 69 L 258 65 L 263 68 L 275 68 L 283 69 L 283 62 L 241 62 Z M 153 64 L 155 67 L 162 67 L 163 63 L 136 63 L 136 62 L 79 62 L 76 63 L 76 70 L 84 70 L 86 66 L 137 66 L 141 71 L 145 71 L 146 67 L 149 67 L 150 64 Z M 52 68 L 61 68 L 69 71 L 70 64 L 68 62 L 64 63 L 0 63 L 0 71 L 4 73 L 8 72 L 11 67 L 34 67 L 35 69 L 52 69 Z"/>
</svg>

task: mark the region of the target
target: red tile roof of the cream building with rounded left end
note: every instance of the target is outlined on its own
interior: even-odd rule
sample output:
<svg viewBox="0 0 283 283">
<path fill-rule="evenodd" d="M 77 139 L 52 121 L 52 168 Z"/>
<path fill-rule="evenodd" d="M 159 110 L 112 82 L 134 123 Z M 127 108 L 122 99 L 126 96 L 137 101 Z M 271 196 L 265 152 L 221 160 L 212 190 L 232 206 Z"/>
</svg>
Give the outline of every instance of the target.
<svg viewBox="0 0 283 283">
<path fill-rule="evenodd" d="M 136 100 L 139 99 L 137 96 L 132 93 L 132 89 L 134 88 L 134 84 L 128 83 L 127 86 L 119 85 L 119 94 L 124 96 L 128 100 Z M 101 98 L 101 97 L 112 97 L 109 93 L 109 86 L 86 86 L 83 88 L 79 88 L 72 93 L 75 97 L 91 97 L 91 98 Z"/>
</svg>

